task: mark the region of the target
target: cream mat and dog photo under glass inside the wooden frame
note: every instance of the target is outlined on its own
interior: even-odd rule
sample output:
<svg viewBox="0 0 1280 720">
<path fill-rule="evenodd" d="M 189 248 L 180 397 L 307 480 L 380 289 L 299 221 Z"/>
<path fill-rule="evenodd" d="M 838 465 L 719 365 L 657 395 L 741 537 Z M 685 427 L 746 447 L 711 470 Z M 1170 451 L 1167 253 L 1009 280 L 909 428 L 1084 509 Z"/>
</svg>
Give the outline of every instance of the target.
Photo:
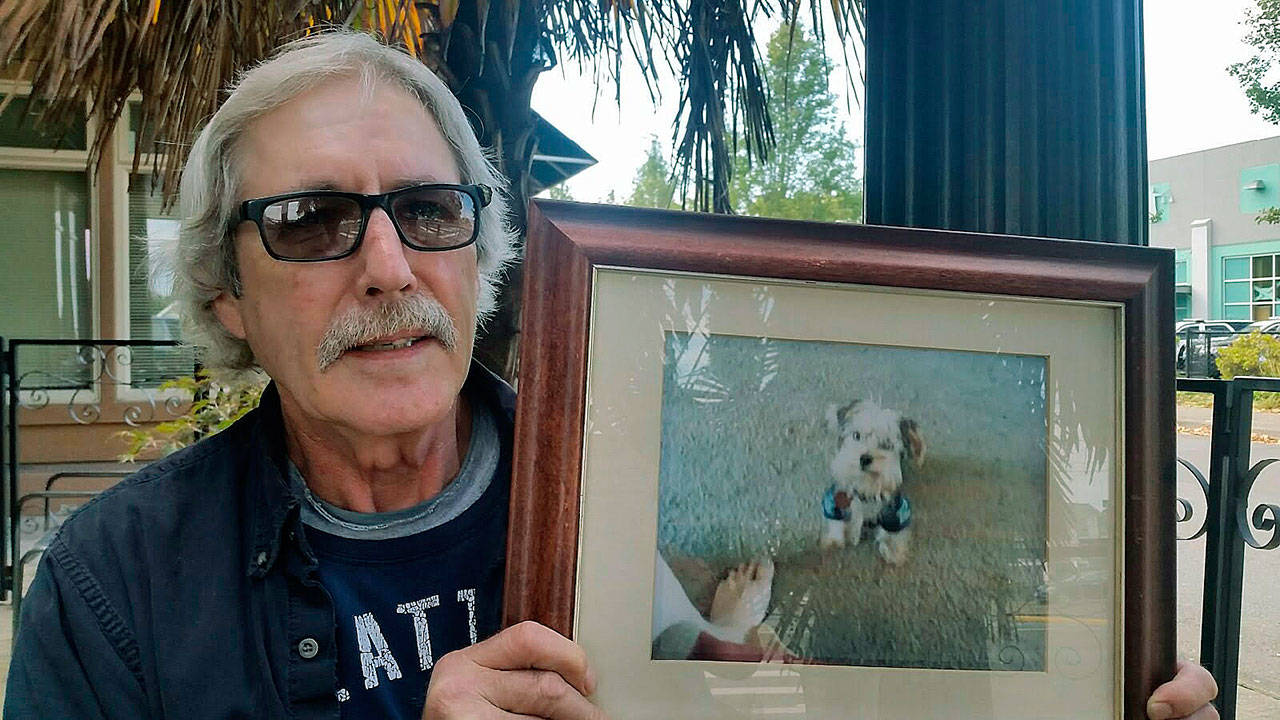
<svg viewBox="0 0 1280 720">
<path fill-rule="evenodd" d="M 1114 715 L 1115 307 L 595 283 L 576 632 L 617 680 L 605 708 Z M 845 520 L 855 493 L 836 483 L 855 484 L 863 452 L 841 448 L 855 428 L 881 447 L 864 415 L 891 420 L 905 543 L 881 542 L 896 512 L 865 533 L 869 514 Z M 884 460 L 869 459 L 882 480 Z"/>
</svg>

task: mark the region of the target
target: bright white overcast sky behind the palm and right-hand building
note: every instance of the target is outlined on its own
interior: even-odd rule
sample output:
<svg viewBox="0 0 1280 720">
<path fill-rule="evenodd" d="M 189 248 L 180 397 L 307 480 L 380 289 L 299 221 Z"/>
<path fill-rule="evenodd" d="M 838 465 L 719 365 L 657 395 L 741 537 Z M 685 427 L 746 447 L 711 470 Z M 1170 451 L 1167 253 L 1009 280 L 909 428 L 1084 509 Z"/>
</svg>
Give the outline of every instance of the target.
<svg viewBox="0 0 1280 720">
<path fill-rule="evenodd" d="M 1280 135 L 1280 128 L 1249 114 L 1244 94 L 1226 65 L 1249 56 L 1240 20 L 1253 0 L 1146 0 L 1147 150 L 1151 159 Z M 758 28 L 760 46 L 772 27 Z M 570 181 L 579 200 L 603 200 L 612 190 L 622 199 L 644 161 L 649 136 L 669 149 L 676 114 L 676 86 L 667 77 L 655 106 L 634 69 L 623 72 L 622 108 L 612 82 L 595 82 L 572 64 L 538 81 L 534 109 L 577 141 L 599 164 Z M 846 95 L 842 68 L 833 68 L 832 87 Z M 860 109 L 846 117 L 850 135 L 861 137 Z"/>
</svg>

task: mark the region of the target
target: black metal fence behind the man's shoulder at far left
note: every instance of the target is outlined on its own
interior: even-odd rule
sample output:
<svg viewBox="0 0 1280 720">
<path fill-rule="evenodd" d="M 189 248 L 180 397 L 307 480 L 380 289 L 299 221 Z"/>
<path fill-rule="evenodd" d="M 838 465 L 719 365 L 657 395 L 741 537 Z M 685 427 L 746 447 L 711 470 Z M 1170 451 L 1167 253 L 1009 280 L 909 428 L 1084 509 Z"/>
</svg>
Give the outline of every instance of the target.
<svg viewBox="0 0 1280 720">
<path fill-rule="evenodd" d="M 0 468 L 4 470 L 4 570 L 0 598 L 19 587 L 22 565 L 32 553 L 22 553 L 20 536 L 51 529 L 69 510 L 55 507 L 83 501 L 81 489 L 58 489 L 70 478 L 118 479 L 111 470 L 61 470 L 51 473 L 42 491 L 20 493 L 23 434 L 31 425 L 19 423 L 20 411 L 44 415 L 47 423 L 72 425 L 118 424 L 140 428 L 180 415 L 188 404 L 180 393 L 163 389 L 164 380 L 191 375 L 198 369 L 189 347 L 174 341 L 136 340 L 5 340 L 0 337 Z M 124 450 L 122 439 L 120 448 Z M 44 515 L 23 515 L 42 503 Z M 38 550 L 38 541 L 37 541 Z"/>
</svg>

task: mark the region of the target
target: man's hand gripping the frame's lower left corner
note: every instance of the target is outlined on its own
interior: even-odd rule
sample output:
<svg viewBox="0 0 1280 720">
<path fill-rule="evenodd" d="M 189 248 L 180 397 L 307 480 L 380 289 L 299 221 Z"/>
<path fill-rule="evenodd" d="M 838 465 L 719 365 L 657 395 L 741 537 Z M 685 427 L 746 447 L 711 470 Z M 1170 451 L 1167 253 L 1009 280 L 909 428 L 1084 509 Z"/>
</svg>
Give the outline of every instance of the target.
<svg viewBox="0 0 1280 720">
<path fill-rule="evenodd" d="M 593 692 L 595 676 L 582 648 L 526 621 L 442 657 L 431 670 L 422 717 L 605 720 L 586 700 Z"/>
</svg>

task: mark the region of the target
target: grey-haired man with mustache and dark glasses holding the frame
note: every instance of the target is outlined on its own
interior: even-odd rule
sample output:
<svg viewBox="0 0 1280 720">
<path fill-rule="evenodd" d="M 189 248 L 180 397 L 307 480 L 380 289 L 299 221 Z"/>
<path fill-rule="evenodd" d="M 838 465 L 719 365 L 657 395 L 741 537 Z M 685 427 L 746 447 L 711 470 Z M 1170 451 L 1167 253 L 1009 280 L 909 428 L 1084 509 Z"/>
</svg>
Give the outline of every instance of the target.
<svg viewBox="0 0 1280 720">
<path fill-rule="evenodd" d="M 67 521 L 6 717 L 602 717 L 575 643 L 499 632 L 513 396 L 471 348 L 500 188 L 444 85 L 366 36 L 239 81 L 183 174 L 175 292 L 209 366 L 273 383 Z"/>
</svg>

